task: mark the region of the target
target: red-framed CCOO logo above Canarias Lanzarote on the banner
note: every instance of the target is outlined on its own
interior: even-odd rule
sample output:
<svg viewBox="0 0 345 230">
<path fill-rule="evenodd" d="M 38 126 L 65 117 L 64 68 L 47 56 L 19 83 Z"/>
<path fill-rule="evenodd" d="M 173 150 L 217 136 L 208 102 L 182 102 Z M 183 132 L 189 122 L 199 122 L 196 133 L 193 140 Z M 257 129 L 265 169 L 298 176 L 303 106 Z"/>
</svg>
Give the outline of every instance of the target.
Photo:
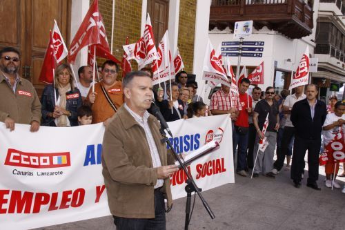
<svg viewBox="0 0 345 230">
<path fill-rule="evenodd" d="M 70 152 L 65 153 L 25 153 L 8 148 L 5 165 L 46 169 L 70 166 Z"/>
</svg>

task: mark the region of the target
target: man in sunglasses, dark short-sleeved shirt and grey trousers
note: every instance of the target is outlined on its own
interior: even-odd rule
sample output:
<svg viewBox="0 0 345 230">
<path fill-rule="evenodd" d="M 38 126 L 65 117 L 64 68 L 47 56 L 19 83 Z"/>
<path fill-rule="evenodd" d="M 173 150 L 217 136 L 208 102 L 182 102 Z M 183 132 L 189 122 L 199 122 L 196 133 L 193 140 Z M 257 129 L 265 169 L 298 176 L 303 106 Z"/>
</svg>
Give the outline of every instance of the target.
<svg viewBox="0 0 345 230">
<path fill-rule="evenodd" d="M 254 115 L 253 115 L 253 123 L 257 130 L 257 137 L 254 147 L 254 173 L 253 178 L 257 178 L 259 173 L 266 175 L 270 178 L 275 178 L 275 175 L 272 173 L 273 169 L 273 156 L 275 154 L 275 144 L 277 143 L 277 131 L 279 128 L 279 109 L 278 104 L 273 99 L 275 95 L 275 88 L 272 86 L 268 86 L 265 91 L 265 99 L 257 102 Z M 266 117 L 268 115 L 268 126 L 266 129 L 266 133 L 262 133 L 262 128 L 264 127 L 264 123 L 266 121 Z M 262 151 L 257 151 L 259 148 L 260 140 L 268 141 L 268 146 Z M 257 154 L 257 156 L 256 156 Z"/>
</svg>

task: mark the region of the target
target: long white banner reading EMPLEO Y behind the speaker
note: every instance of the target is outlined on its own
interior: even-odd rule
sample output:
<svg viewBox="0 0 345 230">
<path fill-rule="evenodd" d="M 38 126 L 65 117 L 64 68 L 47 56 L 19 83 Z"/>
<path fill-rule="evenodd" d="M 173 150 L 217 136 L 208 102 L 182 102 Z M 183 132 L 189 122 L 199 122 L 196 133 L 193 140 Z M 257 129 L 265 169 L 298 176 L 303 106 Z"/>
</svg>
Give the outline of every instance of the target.
<svg viewBox="0 0 345 230">
<path fill-rule="evenodd" d="M 170 122 L 177 152 L 186 154 L 210 140 L 220 148 L 188 166 L 206 191 L 234 182 L 230 119 L 227 115 Z M 1 229 L 32 229 L 110 215 L 103 175 L 103 124 L 55 128 L 0 122 Z M 172 197 L 186 195 L 186 175 L 170 178 Z"/>
</svg>

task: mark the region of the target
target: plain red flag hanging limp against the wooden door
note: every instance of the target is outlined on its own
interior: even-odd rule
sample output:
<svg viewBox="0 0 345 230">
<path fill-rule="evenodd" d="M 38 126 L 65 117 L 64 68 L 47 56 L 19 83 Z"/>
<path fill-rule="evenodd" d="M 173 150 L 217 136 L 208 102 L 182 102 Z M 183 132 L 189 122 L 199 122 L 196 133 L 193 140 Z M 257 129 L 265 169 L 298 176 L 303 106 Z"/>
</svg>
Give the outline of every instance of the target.
<svg viewBox="0 0 345 230">
<path fill-rule="evenodd" d="M 49 44 L 44 55 L 44 61 L 39 74 L 39 82 L 52 84 L 54 82 L 53 69 L 55 69 L 56 60 L 54 57 L 54 45 L 52 41 L 52 31 L 50 31 Z"/>
</svg>

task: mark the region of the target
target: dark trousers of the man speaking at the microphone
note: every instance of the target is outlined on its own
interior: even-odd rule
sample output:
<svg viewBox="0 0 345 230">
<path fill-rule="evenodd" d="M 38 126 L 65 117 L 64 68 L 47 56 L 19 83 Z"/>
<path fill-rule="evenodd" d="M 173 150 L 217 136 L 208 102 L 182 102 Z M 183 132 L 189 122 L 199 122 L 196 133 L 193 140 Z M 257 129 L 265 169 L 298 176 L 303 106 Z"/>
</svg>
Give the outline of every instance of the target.
<svg viewBox="0 0 345 230">
<path fill-rule="evenodd" d="M 155 189 L 155 218 L 137 219 L 121 218 L 114 216 L 114 224 L 117 230 L 155 230 L 166 229 L 166 210 L 164 204 L 164 195 Z"/>
</svg>

